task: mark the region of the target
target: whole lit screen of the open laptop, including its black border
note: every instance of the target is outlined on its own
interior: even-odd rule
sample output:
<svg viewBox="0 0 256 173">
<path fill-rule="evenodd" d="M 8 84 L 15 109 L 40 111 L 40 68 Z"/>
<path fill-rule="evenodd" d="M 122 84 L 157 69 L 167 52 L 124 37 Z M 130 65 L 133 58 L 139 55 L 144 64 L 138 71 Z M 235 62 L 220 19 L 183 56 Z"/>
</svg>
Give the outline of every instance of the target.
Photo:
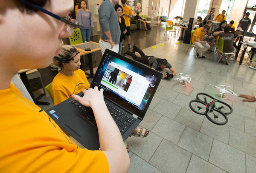
<svg viewBox="0 0 256 173">
<path fill-rule="evenodd" d="M 106 49 L 91 88 L 104 89 L 104 96 L 144 117 L 163 74 Z"/>
</svg>

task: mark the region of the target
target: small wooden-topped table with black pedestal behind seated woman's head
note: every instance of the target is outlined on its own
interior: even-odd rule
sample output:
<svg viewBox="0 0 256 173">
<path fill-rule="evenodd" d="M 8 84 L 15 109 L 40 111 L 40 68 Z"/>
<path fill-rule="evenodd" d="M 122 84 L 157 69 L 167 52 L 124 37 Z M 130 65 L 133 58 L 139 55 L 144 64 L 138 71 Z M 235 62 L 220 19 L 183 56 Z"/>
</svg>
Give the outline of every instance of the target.
<svg viewBox="0 0 256 173">
<path fill-rule="evenodd" d="M 93 78 L 93 60 L 92 60 L 92 53 L 96 51 L 100 51 L 99 43 L 96 42 L 87 42 L 87 43 L 81 43 L 77 45 L 73 45 L 78 51 L 80 51 L 80 55 L 88 55 L 89 58 L 89 68 L 90 68 L 90 74 L 86 73 L 89 75 L 89 78 Z M 90 48 L 90 51 L 85 51 L 85 48 Z"/>
</svg>

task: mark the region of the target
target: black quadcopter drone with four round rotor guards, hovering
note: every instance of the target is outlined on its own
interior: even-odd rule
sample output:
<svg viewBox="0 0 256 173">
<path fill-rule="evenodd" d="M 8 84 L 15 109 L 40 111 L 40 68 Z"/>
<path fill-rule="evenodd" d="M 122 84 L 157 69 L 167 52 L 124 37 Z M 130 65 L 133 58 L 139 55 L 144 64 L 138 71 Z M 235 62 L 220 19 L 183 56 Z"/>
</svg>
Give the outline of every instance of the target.
<svg viewBox="0 0 256 173">
<path fill-rule="evenodd" d="M 197 114 L 205 115 L 216 125 L 227 124 L 227 115 L 233 111 L 227 103 L 205 93 L 198 93 L 196 99 L 189 102 L 189 108 Z"/>
</svg>

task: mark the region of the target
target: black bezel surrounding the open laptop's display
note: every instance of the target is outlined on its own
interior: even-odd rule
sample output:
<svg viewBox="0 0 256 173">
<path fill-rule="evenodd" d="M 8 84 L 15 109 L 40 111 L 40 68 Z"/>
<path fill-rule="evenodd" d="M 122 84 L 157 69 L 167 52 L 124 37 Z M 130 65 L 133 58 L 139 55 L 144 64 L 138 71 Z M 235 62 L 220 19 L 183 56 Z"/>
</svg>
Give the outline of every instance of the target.
<svg viewBox="0 0 256 173">
<path fill-rule="evenodd" d="M 148 71 L 148 73 L 152 73 L 152 75 L 154 74 L 156 79 L 158 79 L 155 83 L 155 87 L 153 88 L 153 91 L 151 92 L 151 95 L 148 99 L 148 102 L 147 104 L 145 105 L 145 108 L 143 109 L 143 111 L 140 111 L 138 108 L 135 108 L 134 106 L 128 104 L 122 97 L 112 93 L 112 92 L 107 92 L 107 91 L 104 91 L 103 94 L 105 97 L 107 97 L 108 99 L 112 100 L 112 102 L 119 102 L 121 103 L 120 105 L 122 105 L 122 107 L 124 107 L 126 110 L 130 111 L 131 113 L 133 114 L 136 114 L 137 116 L 139 116 L 141 119 L 143 119 L 143 117 L 145 116 L 145 113 L 146 111 L 148 110 L 148 107 L 151 103 L 151 100 L 153 99 L 153 96 L 154 94 L 156 93 L 157 91 L 157 87 L 163 77 L 163 74 L 159 71 L 156 71 L 154 70 L 153 68 L 150 68 L 144 64 L 141 64 L 140 62 L 137 62 L 137 61 L 134 61 L 132 59 L 129 59 L 128 57 L 125 57 L 125 56 L 122 56 L 120 54 L 117 54 L 116 52 L 113 52 L 109 49 L 106 49 L 103 56 L 102 56 L 102 60 L 101 62 L 99 63 L 99 66 L 97 68 L 97 71 L 96 71 L 96 74 L 97 75 L 99 73 L 99 69 L 103 63 L 103 60 L 104 60 L 104 57 L 106 56 L 106 54 L 110 54 L 111 56 L 114 56 L 122 61 L 125 61 L 125 62 L 128 62 L 132 65 L 134 65 L 135 67 L 138 67 L 140 69 L 142 69 L 143 71 Z M 90 88 L 94 88 L 96 85 L 94 84 L 94 82 L 96 81 L 96 76 L 93 78 L 93 81 L 90 85 Z"/>
</svg>

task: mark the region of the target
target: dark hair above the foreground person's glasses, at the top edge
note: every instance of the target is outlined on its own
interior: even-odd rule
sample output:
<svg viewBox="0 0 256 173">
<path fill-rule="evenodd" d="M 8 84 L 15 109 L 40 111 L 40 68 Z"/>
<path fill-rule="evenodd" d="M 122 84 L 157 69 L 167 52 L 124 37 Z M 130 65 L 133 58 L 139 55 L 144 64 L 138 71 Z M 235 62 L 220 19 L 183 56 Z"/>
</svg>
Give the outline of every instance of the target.
<svg viewBox="0 0 256 173">
<path fill-rule="evenodd" d="M 49 0 L 50 1 L 50 0 Z M 13 2 L 16 4 L 17 8 L 22 12 L 26 14 L 34 14 L 38 10 L 34 9 L 33 7 L 30 7 L 26 5 L 25 3 L 21 2 L 20 0 L 13 0 Z M 45 6 L 47 0 L 29 0 L 29 2 L 34 3 L 38 6 Z"/>
</svg>

